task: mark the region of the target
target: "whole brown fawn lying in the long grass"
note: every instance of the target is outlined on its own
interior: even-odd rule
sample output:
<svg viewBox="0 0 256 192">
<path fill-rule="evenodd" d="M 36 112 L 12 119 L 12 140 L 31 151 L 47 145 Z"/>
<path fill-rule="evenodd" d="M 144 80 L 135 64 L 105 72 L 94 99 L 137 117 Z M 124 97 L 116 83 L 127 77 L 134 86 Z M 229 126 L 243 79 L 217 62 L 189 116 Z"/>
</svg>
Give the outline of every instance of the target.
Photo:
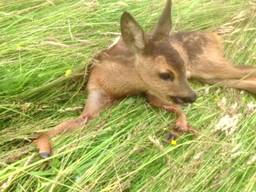
<svg viewBox="0 0 256 192">
<path fill-rule="evenodd" d="M 96 58 L 89 74 L 88 99 L 80 117 L 41 134 L 35 143 L 42 157 L 51 153 L 50 138 L 83 126 L 106 106 L 129 95 L 144 93 L 157 107 L 177 113 L 176 129 L 192 131 L 182 103 L 196 99 L 187 80 L 219 83 L 256 93 L 256 69 L 234 67 L 224 58 L 215 33 L 180 32 L 169 35 L 171 1 L 152 33 L 144 33 L 134 18 L 124 13 L 120 39 Z"/>
</svg>

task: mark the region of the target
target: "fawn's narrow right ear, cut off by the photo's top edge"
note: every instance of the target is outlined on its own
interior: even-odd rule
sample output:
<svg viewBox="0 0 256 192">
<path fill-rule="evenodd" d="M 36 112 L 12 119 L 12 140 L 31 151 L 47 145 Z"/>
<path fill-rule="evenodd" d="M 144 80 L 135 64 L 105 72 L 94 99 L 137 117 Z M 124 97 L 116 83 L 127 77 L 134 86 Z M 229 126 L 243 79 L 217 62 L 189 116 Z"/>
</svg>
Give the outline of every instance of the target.
<svg viewBox="0 0 256 192">
<path fill-rule="evenodd" d="M 169 36 L 172 27 L 171 9 L 172 1 L 167 0 L 162 15 L 153 31 L 154 40 L 162 40 Z"/>
</svg>

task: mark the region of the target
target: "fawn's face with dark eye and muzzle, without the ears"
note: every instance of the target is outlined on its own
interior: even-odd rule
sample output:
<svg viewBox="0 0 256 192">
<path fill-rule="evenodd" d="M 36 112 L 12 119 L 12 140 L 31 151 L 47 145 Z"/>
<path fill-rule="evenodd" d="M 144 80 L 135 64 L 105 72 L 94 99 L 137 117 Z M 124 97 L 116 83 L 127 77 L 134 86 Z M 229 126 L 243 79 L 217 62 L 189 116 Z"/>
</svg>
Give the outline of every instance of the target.
<svg viewBox="0 0 256 192">
<path fill-rule="evenodd" d="M 165 102 L 193 102 L 195 93 L 190 88 L 185 64 L 179 53 L 165 42 L 151 42 L 144 53 L 137 55 L 136 70 L 147 91 Z"/>
</svg>

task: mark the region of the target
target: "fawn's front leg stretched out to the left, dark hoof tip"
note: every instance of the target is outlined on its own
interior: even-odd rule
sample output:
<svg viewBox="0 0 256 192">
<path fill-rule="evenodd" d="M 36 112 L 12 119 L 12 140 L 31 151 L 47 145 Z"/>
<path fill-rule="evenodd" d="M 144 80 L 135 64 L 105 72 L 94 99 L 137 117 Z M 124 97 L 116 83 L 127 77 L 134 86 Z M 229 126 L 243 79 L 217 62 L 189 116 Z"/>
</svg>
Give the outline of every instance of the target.
<svg viewBox="0 0 256 192">
<path fill-rule="evenodd" d="M 78 118 L 70 119 L 60 123 L 53 129 L 40 134 L 39 137 L 37 137 L 37 139 L 34 141 L 37 148 L 39 149 L 39 154 L 41 157 L 47 158 L 50 156 L 52 152 L 50 141 L 51 137 L 54 137 L 62 132 L 67 132 L 75 128 L 82 127 L 90 119 L 96 117 L 100 111 L 112 103 L 112 101 L 112 98 L 108 96 L 103 90 L 91 90 L 89 92 L 84 110 Z"/>
</svg>

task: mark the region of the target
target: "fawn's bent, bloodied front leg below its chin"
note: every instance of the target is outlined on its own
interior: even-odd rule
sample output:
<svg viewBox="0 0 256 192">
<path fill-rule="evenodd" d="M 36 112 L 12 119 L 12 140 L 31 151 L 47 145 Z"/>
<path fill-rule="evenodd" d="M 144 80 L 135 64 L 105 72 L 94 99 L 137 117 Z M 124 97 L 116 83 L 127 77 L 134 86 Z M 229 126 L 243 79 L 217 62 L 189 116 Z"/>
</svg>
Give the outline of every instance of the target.
<svg viewBox="0 0 256 192">
<path fill-rule="evenodd" d="M 188 124 L 185 113 L 182 111 L 181 107 L 177 104 L 165 104 L 160 101 L 157 97 L 148 95 L 148 101 L 151 105 L 163 108 L 167 111 L 174 112 L 177 114 L 175 131 L 178 132 L 195 132 L 194 129 Z"/>
</svg>

